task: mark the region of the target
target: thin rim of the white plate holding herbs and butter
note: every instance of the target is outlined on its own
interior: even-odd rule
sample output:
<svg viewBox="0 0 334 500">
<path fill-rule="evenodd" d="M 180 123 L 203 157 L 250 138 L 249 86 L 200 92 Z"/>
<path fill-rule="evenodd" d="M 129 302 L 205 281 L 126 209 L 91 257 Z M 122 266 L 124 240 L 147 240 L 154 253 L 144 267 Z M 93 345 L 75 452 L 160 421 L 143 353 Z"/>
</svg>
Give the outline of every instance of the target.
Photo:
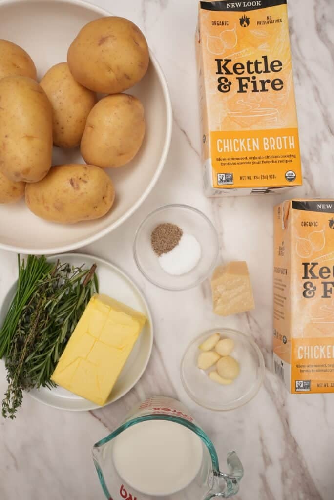
<svg viewBox="0 0 334 500">
<path fill-rule="evenodd" d="M 153 349 L 153 342 L 154 342 L 154 325 L 153 325 L 153 318 L 152 318 L 152 313 L 151 313 L 151 310 L 150 310 L 150 307 L 147 303 L 147 300 L 146 300 L 146 297 L 143 295 L 142 291 L 140 290 L 140 288 L 138 287 L 138 285 L 136 284 L 136 282 L 132 279 L 132 277 L 130 277 L 126 272 L 123 271 L 123 269 L 121 269 L 120 267 L 118 267 L 118 265 L 116 264 L 113 264 L 112 262 L 110 262 L 109 260 L 106 260 L 104 258 L 100 258 L 100 257 L 96 257 L 95 255 L 91 255 L 90 253 L 60 253 L 60 254 L 52 254 L 52 255 L 48 255 L 47 258 L 52 258 L 52 257 L 61 257 L 61 258 L 65 258 L 65 257 L 78 257 L 78 258 L 85 258 L 85 257 L 90 257 L 92 258 L 93 260 L 96 260 L 96 262 L 101 262 L 103 263 L 104 265 L 107 265 L 107 266 L 111 266 L 113 267 L 113 269 L 115 269 L 117 272 L 119 272 L 121 275 L 123 275 L 125 277 L 125 279 L 131 284 L 131 286 L 134 288 L 134 290 L 137 292 L 138 296 L 141 298 L 141 300 L 143 301 L 145 307 L 146 307 L 146 311 L 147 311 L 147 319 L 148 321 L 150 322 L 150 325 L 151 325 L 151 334 L 150 334 L 150 339 L 149 339 L 149 349 L 148 349 L 148 352 L 147 352 L 147 358 L 145 360 L 145 363 L 142 367 L 142 369 L 140 370 L 140 372 L 138 373 L 135 381 L 129 386 L 128 389 L 124 390 L 121 394 L 119 394 L 119 396 L 117 396 L 113 401 L 110 401 L 109 403 L 106 403 L 104 406 L 98 406 L 96 404 L 93 404 L 91 405 L 91 407 L 89 408 L 85 408 L 85 409 L 81 409 L 81 408 L 75 408 L 75 409 L 71 409 L 71 408 L 63 408 L 62 406 L 58 406 L 56 404 L 50 404 L 50 403 L 47 403 L 45 401 L 41 401 L 38 397 L 36 397 L 34 394 L 31 394 L 29 391 L 27 391 L 27 393 L 29 394 L 29 396 L 32 398 L 32 399 L 35 399 L 36 401 L 38 401 L 39 403 L 41 404 L 45 404 L 46 406 L 50 406 L 52 408 L 55 408 L 55 409 L 61 409 L 61 410 L 64 410 L 64 411 L 92 411 L 92 410 L 95 410 L 95 409 L 101 409 L 101 408 L 104 408 L 106 406 L 108 406 L 109 404 L 113 404 L 114 402 L 118 401 L 118 399 L 120 399 L 121 397 L 124 397 L 131 389 L 133 389 L 133 387 L 137 384 L 137 382 L 140 380 L 140 378 L 142 377 L 145 369 L 147 368 L 147 365 L 148 365 L 148 362 L 150 360 L 150 357 L 152 355 L 152 349 Z"/>
</svg>

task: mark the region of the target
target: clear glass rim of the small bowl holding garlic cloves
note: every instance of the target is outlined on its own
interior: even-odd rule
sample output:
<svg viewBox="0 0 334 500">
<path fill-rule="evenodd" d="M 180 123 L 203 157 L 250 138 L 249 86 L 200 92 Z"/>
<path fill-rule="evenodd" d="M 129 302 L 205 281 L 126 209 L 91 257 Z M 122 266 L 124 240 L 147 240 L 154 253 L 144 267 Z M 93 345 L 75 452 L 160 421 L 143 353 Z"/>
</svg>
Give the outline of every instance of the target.
<svg viewBox="0 0 334 500">
<path fill-rule="evenodd" d="M 206 404 L 203 404 L 200 399 L 198 399 L 191 391 L 190 389 L 188 388 L 185 380 L 184 380 L 184 377 L 183 377 L 183 363 L 184 363 L 184 358 L 186 356 L 186 353 L 188 352 L 188 349 L 190 348 L 190 346 L 192 344 L 194 344 L 195 342 L 198 342 L 198 340 L 203 337 L 203 336 L 206 336 L 206 335 L 210 335 L 210 333 L 212 332 L 215 332 L 215 331 L 220 331 L 220 330 L 224 330 L 226 332 L 228 331 L 232 331 L 233 333 L 236 333 L 237 335 L 241 335 L 242 337 L 244 337 L 248 343 L 254 348 L 254 350 L 256 351 L 256 354 L 257 354 L 257 358 L 258 358 L 258 361 L 259 361 L 259 369 L 260 369 L 260 376 L 258 378 L 258 383 L 257 383 L 257 387 L 255 389 L 255 391 L 250 395 L 250 397 L 246 398 L 244 401 L 242 401 L 241 404 L 233 404 L 232 406 L 230 406 L 229 408 L 213 408 L 212 406 L 209 406 L 209 405 L 206 405 Z M 217 328 L 210 328 L 209 330 L 207 331 L 204 331 L 203 333 L 201 333 L 200 335 L 198 335 L 196 338 L 194 338 L 193 340 L 191 340 L 191 342 L 188 343 L 188 345 L 186 346 L 185 350 L 184 350 L 184 354 L 182 356 L 182 359 L 181 359 L 181 364 L 180 364 L 180 378 L 181 378 L 181 382 L 182 382 L 182 385 L 183 385 L 183 388 L 185 390 L 185 392 L 187 393 L 187 395 L 190 397 L 190 399 L 192 399 L 192 401 L 194 401 L 196 404 L 198 404 L 198 406 L 201 406 L 202 408 L 206 408 L 206 409 L 209 409 L 211 411 L 231 411 L 233 409 L 237 409 L 237 408 L 241 408 L 242 406 L 244 406 L 245 404 L 249 403 L 249 401 L 251 401 L 255 396 L 256 394 L 258 393 L 258 391 L 260 390 L 260 387 L 263 383 L 263 380 L 264 380 L 264 373 L 265 373 L 265 363 L 264 363 L 264 357 L 263 357 L 263 354 L 261 352 L 261 349 L 259 348 L 259 346 L 257 345 L 257 343 L 255 342 L 255 340 L 253 340 L 251 338 L 250 335 L 246 335 L 245 333 L 242 333 L 241 331 L 239 330 L 234 330 L 234 328 L 224 328 L 223 326 L 218 326 Z"/>
</svg>

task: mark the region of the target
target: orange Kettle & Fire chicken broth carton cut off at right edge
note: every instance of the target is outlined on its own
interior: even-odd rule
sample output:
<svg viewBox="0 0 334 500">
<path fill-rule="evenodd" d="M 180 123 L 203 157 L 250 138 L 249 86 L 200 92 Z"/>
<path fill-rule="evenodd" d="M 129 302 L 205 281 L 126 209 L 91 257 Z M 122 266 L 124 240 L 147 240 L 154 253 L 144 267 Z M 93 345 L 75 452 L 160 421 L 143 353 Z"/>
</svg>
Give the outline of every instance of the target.
<svg viewBox="0 0 334 500">
<path fill-rule="evenodd" d="M 334 199 L 274 209 L 275 372 L 292 393 L 334 392 Z"/>
</svg>

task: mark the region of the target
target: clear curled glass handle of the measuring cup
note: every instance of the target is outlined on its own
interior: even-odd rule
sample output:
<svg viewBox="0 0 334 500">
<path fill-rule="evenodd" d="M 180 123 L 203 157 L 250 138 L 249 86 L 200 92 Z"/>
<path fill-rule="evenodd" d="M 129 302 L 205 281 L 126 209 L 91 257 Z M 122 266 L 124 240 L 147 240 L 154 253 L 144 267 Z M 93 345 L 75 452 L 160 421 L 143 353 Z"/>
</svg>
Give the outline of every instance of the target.
<svg viewBox="0 0 334 500">
<path fill-rule="evenodd" d="M 239 483 L 243 476 L 243 467 L 235 451 L 228 453 L 227 465 L 230 470 L 229 473 L 219 471 L 214 473 L 214 486 L 205 500 L 210 500 L 210 498 L 214 497 L 228 498 L 239 491 Z"/>
</svg>

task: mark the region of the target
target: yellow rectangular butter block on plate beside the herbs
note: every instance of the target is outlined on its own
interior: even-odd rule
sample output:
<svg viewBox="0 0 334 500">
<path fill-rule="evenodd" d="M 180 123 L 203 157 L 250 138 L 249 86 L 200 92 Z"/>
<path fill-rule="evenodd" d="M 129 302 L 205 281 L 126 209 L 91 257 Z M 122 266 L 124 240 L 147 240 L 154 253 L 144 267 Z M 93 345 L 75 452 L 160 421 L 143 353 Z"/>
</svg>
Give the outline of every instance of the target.
<svg viewBox="0 0 334 500">
<path fill-rule="evenodd" d="M 107 295 L 94 295 L 55 367 L 51 380 L 102 406 L 106 403 L 146 318 Z"/>
</svg>

